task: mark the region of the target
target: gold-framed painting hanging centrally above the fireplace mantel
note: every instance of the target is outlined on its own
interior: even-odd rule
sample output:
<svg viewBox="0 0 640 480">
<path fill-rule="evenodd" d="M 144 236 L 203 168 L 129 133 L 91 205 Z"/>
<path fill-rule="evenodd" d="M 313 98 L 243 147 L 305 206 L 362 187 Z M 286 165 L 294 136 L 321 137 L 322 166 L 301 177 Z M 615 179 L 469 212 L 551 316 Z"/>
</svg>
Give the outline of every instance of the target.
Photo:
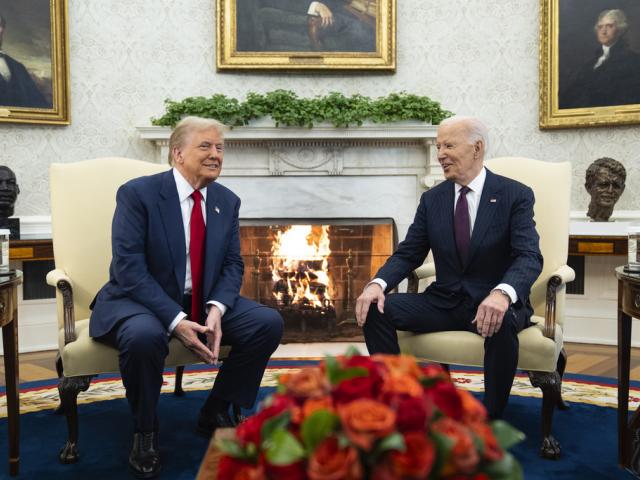
<svg viewBox="0 0 640 480">
<path fill-rule="evenodd" d="M 218 70 L 396 67 L 396 0 L 217 0 Z"/>
</svg>

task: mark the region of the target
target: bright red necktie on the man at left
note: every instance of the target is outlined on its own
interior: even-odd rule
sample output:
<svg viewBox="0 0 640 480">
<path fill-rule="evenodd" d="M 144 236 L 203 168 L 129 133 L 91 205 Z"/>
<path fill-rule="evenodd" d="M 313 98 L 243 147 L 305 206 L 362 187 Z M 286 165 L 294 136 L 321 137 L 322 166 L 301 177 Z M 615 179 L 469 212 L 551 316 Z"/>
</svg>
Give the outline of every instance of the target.
<svg viewBox="0 0 640 480">
<path fill-rule="evenodd" d="M 193 209 L 191 210 L 189 260 L 191 261 L 191 320 L 202 321 L 202 273 L 204 270 L 204 217 L 202 216 L 202 194 L 195 190 L 191 194 Z"/>
</svg>

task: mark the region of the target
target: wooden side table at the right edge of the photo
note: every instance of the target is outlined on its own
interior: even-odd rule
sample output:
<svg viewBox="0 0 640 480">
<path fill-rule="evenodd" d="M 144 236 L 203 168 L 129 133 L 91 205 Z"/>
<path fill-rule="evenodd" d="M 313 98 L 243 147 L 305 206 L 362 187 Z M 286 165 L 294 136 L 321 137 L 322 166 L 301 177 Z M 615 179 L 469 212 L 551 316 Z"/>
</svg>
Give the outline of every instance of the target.
<svg viewBox="0 0 640 480">
<path fill-rule="evenodd" d="M 618 463 L 640 473 L 640 409 L 629 420 L 631 319 L 640 318 L 640 274 L 616 268 L 618 277 Z"/>
</svg>

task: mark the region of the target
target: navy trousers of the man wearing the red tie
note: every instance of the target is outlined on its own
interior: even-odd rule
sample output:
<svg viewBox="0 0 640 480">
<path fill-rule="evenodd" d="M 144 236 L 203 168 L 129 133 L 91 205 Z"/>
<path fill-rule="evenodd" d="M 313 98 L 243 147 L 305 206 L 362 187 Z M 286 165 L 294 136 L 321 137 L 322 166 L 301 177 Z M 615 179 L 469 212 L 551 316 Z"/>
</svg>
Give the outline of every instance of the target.
<svg viewBox="0 0 640 480">
<path fill-rule="evenodd" d="M 231 345 L 209 393 L 205 408 L 214 399 L 243 408 L 253 406 L 271 354 L 282 338 L 283 322 L 275 310 L 239 298 L 236 307 L 222 317 L 222 344 Z M 118 323 L 97 340 L 120 352 L 120 373 L 137 432 L 158 429 L 156 406 L 162 387 L 162 371 L 169 354 L 164 325 L 153 315 L 134 315 Z"/>
</svg>

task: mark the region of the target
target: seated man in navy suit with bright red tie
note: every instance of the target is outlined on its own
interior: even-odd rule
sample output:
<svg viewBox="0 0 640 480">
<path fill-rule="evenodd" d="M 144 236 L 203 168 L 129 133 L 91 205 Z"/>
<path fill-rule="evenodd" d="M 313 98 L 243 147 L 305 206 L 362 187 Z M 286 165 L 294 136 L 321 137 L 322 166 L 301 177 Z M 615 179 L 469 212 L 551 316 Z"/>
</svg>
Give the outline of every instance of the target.
<svg viewBox="0 0 640 480">
<path fill-rule="evenodd" d="M 232 406 L 253 405 L 282 337 L 275 310 L 239 295 L 240 199 L 214 183 L 223 132 L 215 120 L 183 119 L 169 140 L 173 169 L 131 180 L 116 197 L 110 278 L 94 300 L 90 334 L 120 351 L 134 418 L 129 467 L 139 478 L 160 471 L 156 405 L 172 337 L 210 364 L 221 343 L 232 346 L 198 418 L 208 436 L 235 425 Z"/>
</svg>

